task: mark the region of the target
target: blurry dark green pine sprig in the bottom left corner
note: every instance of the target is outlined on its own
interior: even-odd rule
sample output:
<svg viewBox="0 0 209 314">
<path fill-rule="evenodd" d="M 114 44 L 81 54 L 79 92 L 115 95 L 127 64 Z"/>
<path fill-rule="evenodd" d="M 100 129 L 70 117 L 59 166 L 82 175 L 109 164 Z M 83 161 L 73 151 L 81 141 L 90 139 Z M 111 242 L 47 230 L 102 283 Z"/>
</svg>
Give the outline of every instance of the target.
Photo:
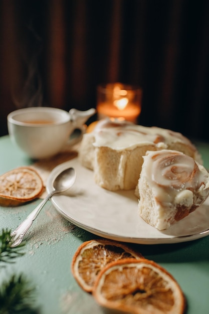
<svg viewBox="0 0 209 314">
<path fill-rule="evenodd" d="M 37 314 L 32 307 L 34 292 L 24 275 L 12 275 L 0 287 L 0 314 Z"/>
</svg>

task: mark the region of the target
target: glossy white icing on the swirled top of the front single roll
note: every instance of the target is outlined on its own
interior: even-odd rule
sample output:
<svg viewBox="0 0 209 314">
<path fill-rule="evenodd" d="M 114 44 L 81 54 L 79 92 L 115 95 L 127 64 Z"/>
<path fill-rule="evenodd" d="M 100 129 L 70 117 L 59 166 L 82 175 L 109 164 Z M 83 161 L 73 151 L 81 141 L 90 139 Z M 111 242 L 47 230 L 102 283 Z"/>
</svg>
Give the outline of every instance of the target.
<svg viewBox="0 0 209 314">
<path fill-rule="evenodd" d="M 208 173 L 181 152 L 147 151 L 144 167 L 144 175 L 159 207 L 199 205 L 198 194 L 207 194 Z"/>
</svg>

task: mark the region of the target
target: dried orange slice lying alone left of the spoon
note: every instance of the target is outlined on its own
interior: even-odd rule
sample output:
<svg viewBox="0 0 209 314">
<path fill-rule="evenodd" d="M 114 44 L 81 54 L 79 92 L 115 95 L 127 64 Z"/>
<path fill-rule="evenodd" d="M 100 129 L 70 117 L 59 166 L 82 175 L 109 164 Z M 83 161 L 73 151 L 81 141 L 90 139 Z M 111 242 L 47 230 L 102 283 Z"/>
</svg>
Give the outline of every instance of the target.
<svg viewBox="0 0 209 314">
<path fill-rule="evenodd" d="M 0 205 L 18 206 L 39 197 L 44 185 L 30 167 L 19 167 L 0 176 Z"/>
</svg>

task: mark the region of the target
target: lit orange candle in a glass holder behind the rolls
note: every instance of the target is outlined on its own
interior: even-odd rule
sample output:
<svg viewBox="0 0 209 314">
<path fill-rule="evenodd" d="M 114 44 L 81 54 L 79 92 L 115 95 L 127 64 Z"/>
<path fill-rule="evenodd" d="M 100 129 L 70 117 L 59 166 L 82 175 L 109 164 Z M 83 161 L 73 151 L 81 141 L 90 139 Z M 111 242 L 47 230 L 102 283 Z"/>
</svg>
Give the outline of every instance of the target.
<svg viewBox="0 0 209 314">
<path fill-rule="evenodd" d="M 97 88 L 98 118 L 124 119 L 136 123 L 141 112 L 142 90 L 138 87 L 113 83 Z"/>
</svg>

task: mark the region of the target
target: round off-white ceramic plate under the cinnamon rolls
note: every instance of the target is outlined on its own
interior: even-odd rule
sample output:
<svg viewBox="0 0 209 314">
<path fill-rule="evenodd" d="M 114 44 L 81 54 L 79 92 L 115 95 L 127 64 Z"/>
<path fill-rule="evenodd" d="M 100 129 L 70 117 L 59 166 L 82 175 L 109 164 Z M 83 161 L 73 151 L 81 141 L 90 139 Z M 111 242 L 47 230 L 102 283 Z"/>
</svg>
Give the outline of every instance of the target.
<svg viewBox="0 0 209 314">
<path fill-rule="evenodd" d="M 57 166 L 47 181 L 52 191 L 54 177 L 74 167 L 76 183 L 65 194 L 53 196 L 57 211 L 70 222 L 95 235 L 140 244 L 191 241 L 209 234 L 209 199 L 196 211 L 167 230 L 159 231 L 138 215 L 138 200 L 133 191 L 111 192 L 94 182 L 93 172 L 82 167 L 78 159 Z"/>
</svg>

